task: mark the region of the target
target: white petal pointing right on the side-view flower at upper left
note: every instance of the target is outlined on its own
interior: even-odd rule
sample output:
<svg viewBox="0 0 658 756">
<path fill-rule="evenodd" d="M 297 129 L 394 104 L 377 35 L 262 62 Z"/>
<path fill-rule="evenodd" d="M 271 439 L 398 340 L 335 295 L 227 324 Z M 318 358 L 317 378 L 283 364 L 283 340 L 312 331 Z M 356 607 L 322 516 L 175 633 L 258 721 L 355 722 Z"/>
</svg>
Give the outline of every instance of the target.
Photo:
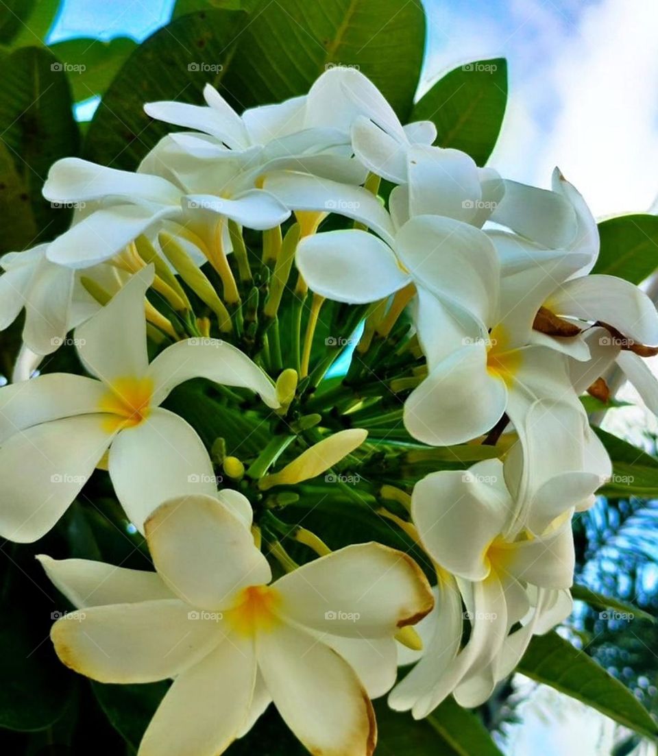
<svg viewBox="0 0 658 756">
<path fill-rule="evenodd" d="M 214 194 L 188 194 L 185 207 L 197 206 L 210 210 L 247 228 L 265 231 L 283 223 L 290 216 L 290 210 L 274 194 L 262 189 L 250 189 L 237 194 L 232 200 L 216 197 Z"/>
</svg>

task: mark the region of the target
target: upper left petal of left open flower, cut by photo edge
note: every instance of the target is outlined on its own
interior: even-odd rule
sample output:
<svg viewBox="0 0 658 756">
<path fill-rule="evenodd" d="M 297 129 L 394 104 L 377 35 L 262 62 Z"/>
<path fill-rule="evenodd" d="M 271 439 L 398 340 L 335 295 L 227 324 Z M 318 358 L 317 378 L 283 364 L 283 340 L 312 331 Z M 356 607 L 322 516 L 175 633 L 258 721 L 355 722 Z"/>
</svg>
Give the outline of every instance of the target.
<svg viewBox="0 0 658 756">
<path fill-rule="evenodd" d="M 14 433 L 62 417 L 94 414 L 107 389 L 73 373 L 47 373 L 0 389 L 0 444 Z"/>
</svg>

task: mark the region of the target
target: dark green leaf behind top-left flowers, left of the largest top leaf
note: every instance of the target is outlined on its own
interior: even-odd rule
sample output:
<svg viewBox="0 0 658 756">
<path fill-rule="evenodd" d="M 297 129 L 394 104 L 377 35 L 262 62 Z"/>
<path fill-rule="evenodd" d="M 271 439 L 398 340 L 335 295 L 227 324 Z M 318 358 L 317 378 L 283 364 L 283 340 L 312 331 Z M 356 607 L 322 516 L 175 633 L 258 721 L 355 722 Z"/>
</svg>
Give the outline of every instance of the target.
<svg viewBox="0 0 658 756">
<path fill-rule="evenodd" d="M 241 11 L 203 11 L 178 18 L 142 42 L 107 89 L 85 138 L 88 160 L 135 169 L 171 126 L 151 120 L 144 103 L 203 104 L 207 82 L 219 85 L 247 21 Z"/>
</svg>

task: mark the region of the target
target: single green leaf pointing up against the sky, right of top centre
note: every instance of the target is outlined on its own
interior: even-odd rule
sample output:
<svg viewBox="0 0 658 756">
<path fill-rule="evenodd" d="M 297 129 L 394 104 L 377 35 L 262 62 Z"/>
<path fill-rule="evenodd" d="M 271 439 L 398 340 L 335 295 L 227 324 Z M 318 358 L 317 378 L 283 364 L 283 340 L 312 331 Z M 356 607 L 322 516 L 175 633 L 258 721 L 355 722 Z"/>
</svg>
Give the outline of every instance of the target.
<svg viewBox="0 0 658 756">
<path fill-rule="evenodd" d="M 411 121 L 433 121 L 439 147 L 463 150 L 483 166 L 507 104 L 507 61 L 477 60 L 447 73 L 419 100 Z"/>
</svg>

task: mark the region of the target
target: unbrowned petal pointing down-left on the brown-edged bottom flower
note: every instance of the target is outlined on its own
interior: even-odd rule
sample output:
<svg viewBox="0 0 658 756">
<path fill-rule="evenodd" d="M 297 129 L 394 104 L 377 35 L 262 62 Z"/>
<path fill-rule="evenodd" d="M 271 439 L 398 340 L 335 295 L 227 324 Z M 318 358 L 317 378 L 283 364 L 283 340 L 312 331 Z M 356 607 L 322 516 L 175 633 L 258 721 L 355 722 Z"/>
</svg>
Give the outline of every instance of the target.
<svg viewBox="0 0 658 756">
<path fill-rule="evenodd" d="M 138 756 L 217 756 L 238 736 L 256 682 L 253 643 L 227 637 L 174 680 Z"/>
</svg>

